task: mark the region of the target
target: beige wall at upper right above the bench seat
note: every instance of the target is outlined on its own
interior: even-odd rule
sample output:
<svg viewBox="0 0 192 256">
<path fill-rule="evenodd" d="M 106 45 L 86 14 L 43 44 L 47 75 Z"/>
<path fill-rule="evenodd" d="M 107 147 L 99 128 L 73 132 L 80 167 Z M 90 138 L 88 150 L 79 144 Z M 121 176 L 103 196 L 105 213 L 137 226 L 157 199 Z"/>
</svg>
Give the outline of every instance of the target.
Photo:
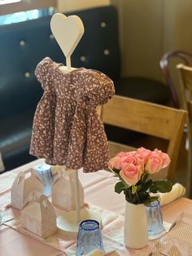
<svg viewBox="0 0 192 256">
<path fill-rule="evenodd" d="M 191 0 L 111 0 L 119 10 L 122 75 L 164 80 L 167 51 L 192 52 Z"/>
</svg>

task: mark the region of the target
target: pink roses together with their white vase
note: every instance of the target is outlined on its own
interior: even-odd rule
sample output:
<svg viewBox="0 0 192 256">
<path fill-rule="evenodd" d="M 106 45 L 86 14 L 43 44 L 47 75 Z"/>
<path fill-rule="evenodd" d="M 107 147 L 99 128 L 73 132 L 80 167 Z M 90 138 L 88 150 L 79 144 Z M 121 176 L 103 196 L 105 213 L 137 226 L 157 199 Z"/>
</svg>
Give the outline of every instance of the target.
<svg viewBox="0 0 192 256">
<path fill-rule="evenodd" d="M 124 215 L 124 244 L 139 249 L 148 244 L 146 206 L 159 196 L 157 192 L 170 192 L 172 183 L 168 179 L 151 179 L 151 174 L 167 167 L 168 154 L 155 149 L 138 148 L 132 152 L 120 152 L 109 161 L 109 169 L 119 177 L 115 191 L 124 192 L 126 199 Z"/>
</svg>

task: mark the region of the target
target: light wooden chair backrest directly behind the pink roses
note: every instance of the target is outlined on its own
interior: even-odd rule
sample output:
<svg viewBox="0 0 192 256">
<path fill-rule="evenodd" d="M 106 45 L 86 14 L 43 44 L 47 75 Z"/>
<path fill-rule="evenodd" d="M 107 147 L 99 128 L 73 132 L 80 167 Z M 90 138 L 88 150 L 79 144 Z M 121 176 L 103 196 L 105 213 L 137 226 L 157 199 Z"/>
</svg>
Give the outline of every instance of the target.
<svg viewBox="0 0 192 256">
<path fill-rule="evenodd" d="M 101 118 L 104 124 L 134 130 L 146 135 L 168 140 L 171 164 L 163 175 L 173 179 L 181 144 L 186 111 L 159 104 L 115 95 L 103 105 Z M 111 157 L 120 151 L 128 151 L 124 145 L 109 141 Z M 160 149 L 160 148 L 158 148 Z"/>
</svg>

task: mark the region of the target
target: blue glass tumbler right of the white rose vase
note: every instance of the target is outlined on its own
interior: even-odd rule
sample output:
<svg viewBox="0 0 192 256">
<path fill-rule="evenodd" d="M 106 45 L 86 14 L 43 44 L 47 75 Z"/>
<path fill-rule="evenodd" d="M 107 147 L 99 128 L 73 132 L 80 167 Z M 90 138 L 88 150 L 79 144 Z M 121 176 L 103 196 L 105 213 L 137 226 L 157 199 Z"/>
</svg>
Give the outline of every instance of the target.
<svg viewBox="0 0 192 256">
<path fill-rule="evenodd" d="M 159 201 L 154 201 L 146 206 L 148 236 L 159 236 L 164 232 L 163 215 Z"/>
</svg>

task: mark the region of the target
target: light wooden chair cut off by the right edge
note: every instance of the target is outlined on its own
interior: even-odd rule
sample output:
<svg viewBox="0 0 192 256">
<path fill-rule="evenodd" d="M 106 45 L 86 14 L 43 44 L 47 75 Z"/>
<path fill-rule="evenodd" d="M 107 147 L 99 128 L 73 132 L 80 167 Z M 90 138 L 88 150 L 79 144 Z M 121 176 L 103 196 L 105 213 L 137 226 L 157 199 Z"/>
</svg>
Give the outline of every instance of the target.
<svg viewBox="0 0 192 256">
<path fill-rule="evenodd" d="M 177 64 L 179 73 L 180 86 L 182 92 L 182 100 L 185 109 L 188 110 L 187 118 L 187 139 L 188 139 L 188 174 L 187 174 L 187 190 L 192 198 L 192 67 L 184 64 Z"/>
</svg>

